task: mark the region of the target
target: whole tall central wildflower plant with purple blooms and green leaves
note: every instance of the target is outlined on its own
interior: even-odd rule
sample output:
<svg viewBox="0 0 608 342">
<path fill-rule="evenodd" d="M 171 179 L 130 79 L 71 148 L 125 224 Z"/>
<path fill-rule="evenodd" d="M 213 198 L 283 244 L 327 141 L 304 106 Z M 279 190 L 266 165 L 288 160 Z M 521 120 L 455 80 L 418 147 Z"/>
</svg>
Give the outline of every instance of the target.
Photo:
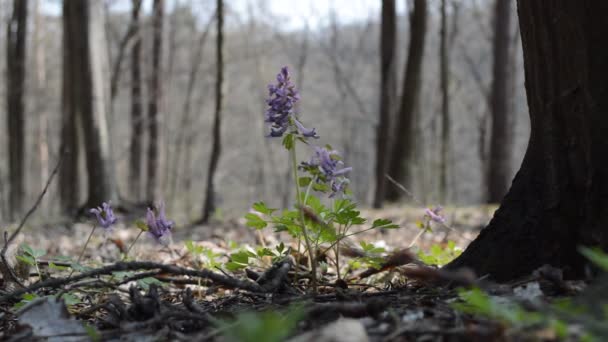
<svg viewBox="0 0 608 342">
<path fill-rule="evenodd" d="M 296 238 L 298 252 L 303 241 L 313 292 L 316 292 L 318 254 L 333 250 L 333 263 L 340 278 L 339 255 L 343 239 L 369 229 L 398 226 L 388 220 L 376 220 L 370 228 L 351 231 L 353 226 L 366 223 L 356 203 L 349 198 L 348 174 L 352 168 L 345 166 L 340 153 L 330 145 L 317 146 L 313 143 L 319 135 L 315 128 L 307 128 L 295 112 L 300 95 L 287 67 L 281 68 L 276 83 L 268 86 L 268 95 L 265 121 L 269 124 L 270 132 L 267 137 L 283 138 L 282 145 L 290 154 L 296 203 L 293 209 L 279 212 L 263 202 L 257 202 L 245 218 L 247 225 L 256 229 L 272 225 L 275 231 L 288 232 Z M 311 150 L 309 161 L 298 163 L 297 144 Z M 328 200 L 322 200 L 324 196 L 317 195 L 327 196 Z M 251 254 L 253 257 L 255 253 Z M 246 260 L 242 259 L 245 264 Z"/>
</svg>

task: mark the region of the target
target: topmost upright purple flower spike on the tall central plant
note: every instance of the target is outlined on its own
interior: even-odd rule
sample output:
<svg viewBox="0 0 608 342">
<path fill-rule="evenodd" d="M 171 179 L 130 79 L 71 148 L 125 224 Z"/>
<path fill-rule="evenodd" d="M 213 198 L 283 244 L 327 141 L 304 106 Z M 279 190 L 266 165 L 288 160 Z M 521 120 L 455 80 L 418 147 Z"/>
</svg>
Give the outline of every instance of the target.
<svg viewBox="0 0 608 342">
<path fill-rule="evenodd" d="M 266 123 L 270 124 L 270 137 L 282 137 L 290 126 L 295 126 L 302 136 L 318 138 L 315 129 L 308 129 L 295 117 L 294 108 L 300 100 L 300 94 L 295 84 L 291 82 L 287 67 L 281 68 L 277 75 L 277 83 L 268 85 L 268 109 Z"/>
</svg>

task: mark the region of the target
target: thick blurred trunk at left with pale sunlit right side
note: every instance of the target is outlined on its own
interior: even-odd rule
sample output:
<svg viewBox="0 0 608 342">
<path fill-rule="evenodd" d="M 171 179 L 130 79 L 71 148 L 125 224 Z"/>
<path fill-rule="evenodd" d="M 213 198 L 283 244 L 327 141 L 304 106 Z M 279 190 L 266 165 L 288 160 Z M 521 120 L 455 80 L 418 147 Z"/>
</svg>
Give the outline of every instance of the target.
<svg viewBox="0 0 608 342">
<path fill-rule="evenodd" d="M 107 121 L 108 87 L 105 82 L 104 8 L 101 2 L 65 0 L 65 54 L 63 68 L 71 74 L 64 84 L 64 101 L 71 111 L 66 118 L 80 122 L 86 152 L 88 199 L 85 207 L 118 199 Z M 73 123 L 74 124 L 74 123 Z M 66 126 L 68 130 L 76 130 Z M 71 151 L 77 149 L 72 141 Z M 71 180 L 74 182 L 74 179 Z"/>
</svg>

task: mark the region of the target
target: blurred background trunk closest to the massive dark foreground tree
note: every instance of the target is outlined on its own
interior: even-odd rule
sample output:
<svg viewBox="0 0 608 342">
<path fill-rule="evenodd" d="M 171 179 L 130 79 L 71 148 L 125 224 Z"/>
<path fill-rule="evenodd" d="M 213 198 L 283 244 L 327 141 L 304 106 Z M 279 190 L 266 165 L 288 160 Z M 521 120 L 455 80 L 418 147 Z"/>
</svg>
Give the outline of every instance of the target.
<svg viewBox="0 0 608 342">
<path fill-rule="evenodd" d="M 499 203 L 508 190 L 511 160 L 509 132 L 511 1 L 496 0 L 494 10 L 494 65 L 492 68 L 492 132 L 488 165 L 488 203 Z"/>
</svg>

